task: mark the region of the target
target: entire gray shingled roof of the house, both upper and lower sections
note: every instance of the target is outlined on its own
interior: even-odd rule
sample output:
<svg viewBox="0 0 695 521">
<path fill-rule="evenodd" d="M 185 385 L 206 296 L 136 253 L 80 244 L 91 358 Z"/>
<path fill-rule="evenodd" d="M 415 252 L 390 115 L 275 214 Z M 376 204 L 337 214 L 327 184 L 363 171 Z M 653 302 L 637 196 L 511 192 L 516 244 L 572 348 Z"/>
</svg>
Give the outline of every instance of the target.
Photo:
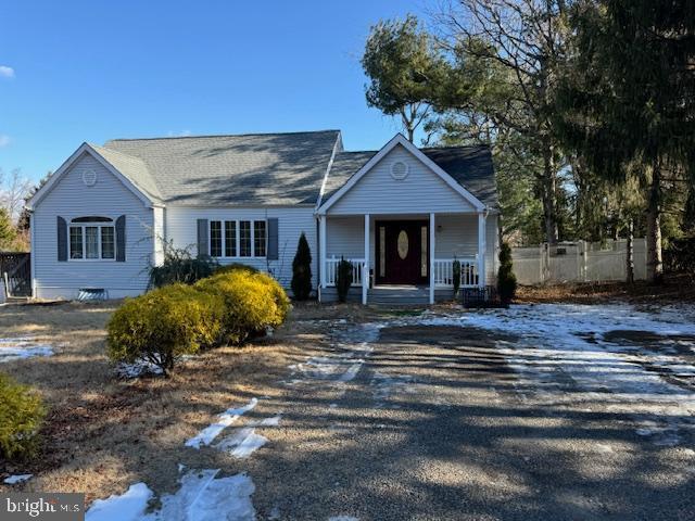
<svg viewBox="0 0 695 521">
<path fill-rule="evenodd" d="M 340 131 L 115 139 L 91 145 L 155 202 L 190 205 L 315 204 Z M 497 207 L 486 147 L 422 149 L 457 182 Z M 327 201 L 377 151 L 338 152 Z"/>
</svg>

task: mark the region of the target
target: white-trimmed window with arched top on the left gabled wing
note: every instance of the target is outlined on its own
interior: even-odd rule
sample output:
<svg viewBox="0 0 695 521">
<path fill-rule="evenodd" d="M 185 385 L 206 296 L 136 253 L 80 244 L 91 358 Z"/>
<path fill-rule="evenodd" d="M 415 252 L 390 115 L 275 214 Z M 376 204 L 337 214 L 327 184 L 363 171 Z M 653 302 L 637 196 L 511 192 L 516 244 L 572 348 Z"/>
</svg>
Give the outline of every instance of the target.
<svg viewBox="0 0 695 521">
<path fill-rule="evenodd" d="M 116 231 L 110 217 L 77 217 L 70 224 L 71 260 L 114 260 Z"/>
</svg>

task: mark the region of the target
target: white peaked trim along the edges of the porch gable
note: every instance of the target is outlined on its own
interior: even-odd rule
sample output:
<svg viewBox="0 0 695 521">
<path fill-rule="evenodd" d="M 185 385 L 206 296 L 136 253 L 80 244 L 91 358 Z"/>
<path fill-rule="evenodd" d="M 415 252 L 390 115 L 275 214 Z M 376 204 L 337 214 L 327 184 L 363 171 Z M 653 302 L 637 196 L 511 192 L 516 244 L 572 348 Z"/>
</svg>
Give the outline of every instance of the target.
<svg viewBox="0 0 695 521">
<path fill-rule="evenodd" d="M 466 201 L 468 201 L 478 212 L 482 212 L 485 209 L 485 205 L 476 198 L 472 193 L 462 187 L 458 182 L 454 180 L 446 171 L 444 171 L 437 163 L 430 160 L 422 151 L 420 151 L 417 147 L 415 147 L 410 141 L 408 141 L 405 136 L 402 134 L 396 134 L 391 141 L 389 141 L 379 152 L 377 152 L 374 157 L 371 157 L 365 165 L 357 170 L 355 175 L 353 175 L 348 182 L 343 185 L 333 195 L 331 195 L 328 201 L 326 201 L 316 212 L 318 215 L 326 215 L 328 208 L 330 208 L 333 204 L 336 204 L 345 193 L 348 193 L 356 183 L 362 179 L 374 166 L 379 163 L 389 152 L 391 152 L 396 145 L 402 145 L 405 150 L 410 152 L 415 157 L 417 157 L 425 166 L 427 166 L 430 170 L 437 174 L 442 180 L 448 185 L 455 192 L 462 195 Z"/>
</svg>

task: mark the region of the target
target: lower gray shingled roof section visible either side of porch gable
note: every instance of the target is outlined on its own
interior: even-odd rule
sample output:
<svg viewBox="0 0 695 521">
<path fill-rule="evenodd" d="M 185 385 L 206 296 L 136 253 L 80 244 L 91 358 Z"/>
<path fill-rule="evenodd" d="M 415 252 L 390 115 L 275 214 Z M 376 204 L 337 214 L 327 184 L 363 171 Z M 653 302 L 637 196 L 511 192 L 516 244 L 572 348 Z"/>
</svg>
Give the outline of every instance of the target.
<svg viewBox="0 0 695 521">
<path fill-rule="evenodd" d="M 493 209 L 498 207 L 492 154 L 488 147 L 445 147 L 420 150 L 483 204 Z M 371 150 L 336 154 L 326 181 L 323 201 L 328 201 L 377 152 Z"/>
</svg>

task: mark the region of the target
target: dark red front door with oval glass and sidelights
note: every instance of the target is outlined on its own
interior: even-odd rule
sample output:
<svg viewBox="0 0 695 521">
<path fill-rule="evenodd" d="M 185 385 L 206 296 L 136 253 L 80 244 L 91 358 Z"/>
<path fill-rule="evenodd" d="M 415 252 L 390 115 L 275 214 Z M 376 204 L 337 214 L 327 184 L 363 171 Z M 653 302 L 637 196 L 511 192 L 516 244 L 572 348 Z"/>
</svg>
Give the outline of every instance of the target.
<svg viewBox="0 0 695 521">
<path fill-rule="evenodd" d="M 426 220 L 376 221 L 377 284 L 424 284 L 428 280 L 429 227 Z"/>
</svg>

